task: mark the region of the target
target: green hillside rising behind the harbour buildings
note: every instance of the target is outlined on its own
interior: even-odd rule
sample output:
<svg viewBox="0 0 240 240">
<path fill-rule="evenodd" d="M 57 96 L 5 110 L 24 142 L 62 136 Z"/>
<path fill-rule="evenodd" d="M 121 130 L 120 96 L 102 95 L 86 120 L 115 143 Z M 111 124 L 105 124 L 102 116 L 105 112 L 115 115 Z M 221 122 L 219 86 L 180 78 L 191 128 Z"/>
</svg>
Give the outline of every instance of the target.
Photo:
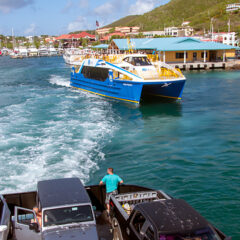
<svg viewBox="0 0 240 240">
<path fill-rule="evenodd" d="M 196 30 L 209 30 L 213 18 L 215 31 L 227 31 L 228 20 L 231 20 L 231 31 L 240 32 L 240 11 L 226 13 L 226 5 L 237 0 L 171 0 L 133 19 L 125 17 L 108 27 L 139 26 L 141 31 L 163 30 L 164 27 L 181 26 L 183 21 L 190 21 Z M 129 16 L 131 17 L 131 16 Z"/>
</svg>

